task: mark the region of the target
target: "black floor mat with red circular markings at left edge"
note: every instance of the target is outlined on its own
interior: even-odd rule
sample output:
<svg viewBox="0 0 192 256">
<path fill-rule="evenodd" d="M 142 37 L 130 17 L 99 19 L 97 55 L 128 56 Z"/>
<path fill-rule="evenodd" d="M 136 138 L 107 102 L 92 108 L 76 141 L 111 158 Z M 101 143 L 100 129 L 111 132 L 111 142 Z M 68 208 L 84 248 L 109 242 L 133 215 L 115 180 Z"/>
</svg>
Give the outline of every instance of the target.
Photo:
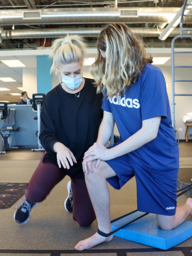
<svg viewBox="0 0 192 256">
<path fill-rule="evenodd" d="M 24 194 L 27 183 L 0 183 L 0 209 L 12 207 Z"/>
</svg>

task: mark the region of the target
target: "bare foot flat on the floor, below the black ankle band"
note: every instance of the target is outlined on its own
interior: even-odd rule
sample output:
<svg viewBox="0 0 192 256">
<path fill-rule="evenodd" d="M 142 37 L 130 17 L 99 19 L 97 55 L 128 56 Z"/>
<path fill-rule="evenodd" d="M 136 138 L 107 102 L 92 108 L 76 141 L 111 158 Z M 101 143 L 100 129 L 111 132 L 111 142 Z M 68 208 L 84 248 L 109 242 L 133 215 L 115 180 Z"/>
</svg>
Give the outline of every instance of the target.
<svg viewBox="0 0 192 256">
<path fill-rule="evenodd" d="M 113 239 L 113 235 L 108 236 L 108 237 L 104 237 L 104 236 L 100 236 L 98 233 L 95 233 L 93 236 L 80 241 L 76 246 L 75 249 L 77 251 L 83 251 L 85 249 L 90 249 L 93 246 L 97 245 L 97 244 L 101 244 L 104 242 L 109 242 Z"/>
</svg>

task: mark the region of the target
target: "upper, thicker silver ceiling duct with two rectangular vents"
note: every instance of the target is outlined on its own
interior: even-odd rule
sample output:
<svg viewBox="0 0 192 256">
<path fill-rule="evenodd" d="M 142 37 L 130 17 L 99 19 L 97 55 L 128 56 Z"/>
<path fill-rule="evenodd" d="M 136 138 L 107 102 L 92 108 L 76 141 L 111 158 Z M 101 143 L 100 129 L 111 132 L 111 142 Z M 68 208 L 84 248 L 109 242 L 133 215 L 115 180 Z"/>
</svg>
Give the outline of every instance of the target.
<svg viewBox="0 0 192 256">
<path fill-rule="evenodd" d="M 121 10 L 121 11 L 120 11 Z M 124 10 L 124 12 L 122 11 Z M 34 9 L 0 10 L 1 25 L 33 24 L 102 24 L 124 23 L 170 23 L 180 8 L 143 7 L 137 8 L 50 8 L 41 9 L 41 16 L 23 19 L 25 12 Z M 37 11 L 37 10 L 36 10 Z M 36 12 L 35 11 L 35 12 Z M 39 11 L 39 10 L 38 10 Z M 125 15 L 127 14 L 128 15 Z M 121 15 L 123 14 L 123 15 Z M 136 15 L 137 14 L 137 15 Z M 29 15 L 29 14 L 25 14 Z M 126 17 L 128 16 L 128 17 Z M 132 16 L 132 17 L 131 17 Z M 38 18 L 38 19 L 37 19 Z M 185 17 L 184 23 L 192 23 L 192 17 Z"/>
</svg>

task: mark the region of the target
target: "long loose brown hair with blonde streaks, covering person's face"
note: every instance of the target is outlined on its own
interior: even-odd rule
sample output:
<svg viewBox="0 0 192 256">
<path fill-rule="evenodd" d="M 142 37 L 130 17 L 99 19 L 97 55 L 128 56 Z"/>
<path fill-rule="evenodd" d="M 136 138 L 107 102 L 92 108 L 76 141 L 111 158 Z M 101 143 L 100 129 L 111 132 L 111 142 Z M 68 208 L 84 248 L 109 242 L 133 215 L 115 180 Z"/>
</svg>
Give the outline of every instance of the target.
<svg viewBox="0 0 192 256">
<path fill-rule="evenodd" d="M 122 23 L 108 24 L 101 30 L 98 41 L 98 58 L 90 68 L 95 79 L 97 92 L 107 91 L 107 95 L 120 95 L 135 83 L 147 62 L 144 44 Z M 106 61 L 99 50 L 106 53 Z M 108 64 L 108 65 L 107 65 Z M 106 78 L 105 85 L 102 78 Z"/>
</svg>

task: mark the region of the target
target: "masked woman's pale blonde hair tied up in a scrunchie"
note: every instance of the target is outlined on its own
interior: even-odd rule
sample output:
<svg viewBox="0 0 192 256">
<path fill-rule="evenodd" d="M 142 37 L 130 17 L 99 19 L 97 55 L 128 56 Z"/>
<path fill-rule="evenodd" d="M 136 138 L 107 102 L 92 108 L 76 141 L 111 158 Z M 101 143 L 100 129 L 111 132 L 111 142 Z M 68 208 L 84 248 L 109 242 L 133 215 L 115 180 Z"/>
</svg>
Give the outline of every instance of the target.
<svg viewBox="0 0 192 256">
<path fill-rule="evenodd" d="M 61 45 L 63 41 L 70 40 L 72 43 Z M 56 66 L 60 64 L 71 64 L 84 60 L 86 55 L 86 44 L 82 36 L 67 35 L 55 39 L 51 45 L 51 53 L 49 57 L 52 59 L 51 74 L 58 75 Z"/>
</svg>

